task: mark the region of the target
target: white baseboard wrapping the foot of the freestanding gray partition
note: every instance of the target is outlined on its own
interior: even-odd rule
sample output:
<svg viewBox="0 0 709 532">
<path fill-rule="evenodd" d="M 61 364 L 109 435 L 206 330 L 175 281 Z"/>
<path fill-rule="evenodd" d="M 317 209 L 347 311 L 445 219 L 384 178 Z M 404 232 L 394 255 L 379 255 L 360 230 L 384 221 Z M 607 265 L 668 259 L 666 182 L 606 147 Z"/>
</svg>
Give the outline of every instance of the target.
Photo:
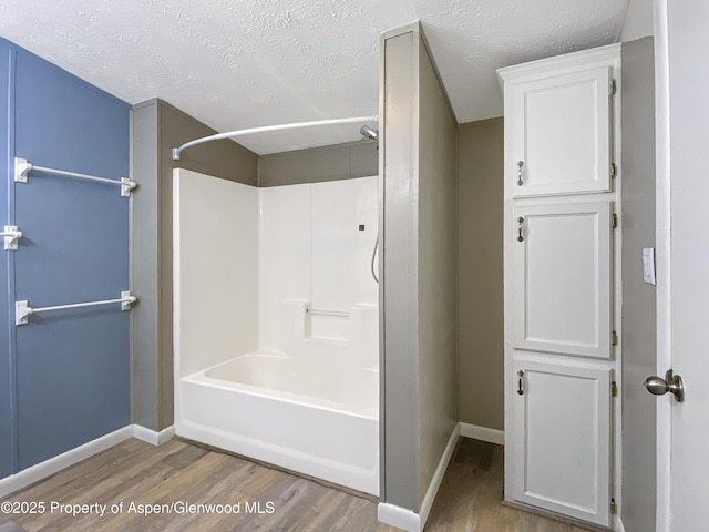
<svg viewBox="0 0 709 532">
<path fill-rule="evenodd" d="M 429 489 L 425 491 L 425 497 L 421 502 L 419 513 L 394 504 L 380 502 L 377 507 L 377 519 L 380 522 L 397 526 L 405 530 L 407 532 L 421 532 L 423 530 L 423 526 L 425 526 L 425 522 L 429 519 L 429 514 L 431 513 L 435 495 L 439 492 L 439 488 L 441 488 L 441 482 L 443 481 L 443 475 L 445 474 L 448 464 L 453 457 L 453 451 L 455 450 L 455 444 L 458 443 L 460 436 L 461 426 L 458 423 L 453 428 L 453 432 L 451 432 L 451 437 L 449 438 L 445 449 L 443 450 L 443 454 L 441 456 L 441 460 L 439 461 L 439 467 L 435 469 L 433 478 L 429 483 Z"/>
</svg>

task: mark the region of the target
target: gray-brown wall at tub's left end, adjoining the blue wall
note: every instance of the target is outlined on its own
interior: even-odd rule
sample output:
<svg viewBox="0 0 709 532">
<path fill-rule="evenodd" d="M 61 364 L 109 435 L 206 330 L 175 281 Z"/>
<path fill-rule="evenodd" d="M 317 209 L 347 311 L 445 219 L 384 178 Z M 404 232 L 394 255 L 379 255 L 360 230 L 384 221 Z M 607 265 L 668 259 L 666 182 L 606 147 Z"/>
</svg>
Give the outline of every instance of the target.
<svg viewBox="0 0 709 532">
<path fill-rule="evenodd" d="M 131 286 L 141 303 L 131 313 L 133 421 L 152 430 L 173 423 L 173 168 L 256 185 L 258 157 L 232 141 L 172 149 L 216 133 L 161 100 L 133 108 Z"/>
</svg>

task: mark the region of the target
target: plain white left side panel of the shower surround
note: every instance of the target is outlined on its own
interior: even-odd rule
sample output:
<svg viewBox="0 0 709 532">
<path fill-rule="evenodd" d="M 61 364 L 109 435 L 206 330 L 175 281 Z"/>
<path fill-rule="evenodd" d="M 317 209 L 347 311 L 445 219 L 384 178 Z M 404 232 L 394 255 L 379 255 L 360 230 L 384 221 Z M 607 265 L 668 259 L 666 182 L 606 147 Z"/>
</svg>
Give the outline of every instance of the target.
<svg viewBox="0 0 709 532">
<path fill-rule="evenodd" d="M 258 190 L 179 168 L 174 187 L 179 378 L 258 347 Z"/>
</svg>

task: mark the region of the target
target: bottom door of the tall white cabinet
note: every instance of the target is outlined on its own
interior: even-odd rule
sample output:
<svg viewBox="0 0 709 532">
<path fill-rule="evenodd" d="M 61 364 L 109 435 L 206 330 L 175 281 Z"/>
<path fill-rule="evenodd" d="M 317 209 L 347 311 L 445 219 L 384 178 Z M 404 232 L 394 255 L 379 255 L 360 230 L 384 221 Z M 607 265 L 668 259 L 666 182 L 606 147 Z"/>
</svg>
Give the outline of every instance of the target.
<svg viewBox="0 0 709 532">
<path fill-rule="evenodd" d="M 610 370 L 522 360 L 513 368 L 514 499 L 608 526 Z"/>
</svg>

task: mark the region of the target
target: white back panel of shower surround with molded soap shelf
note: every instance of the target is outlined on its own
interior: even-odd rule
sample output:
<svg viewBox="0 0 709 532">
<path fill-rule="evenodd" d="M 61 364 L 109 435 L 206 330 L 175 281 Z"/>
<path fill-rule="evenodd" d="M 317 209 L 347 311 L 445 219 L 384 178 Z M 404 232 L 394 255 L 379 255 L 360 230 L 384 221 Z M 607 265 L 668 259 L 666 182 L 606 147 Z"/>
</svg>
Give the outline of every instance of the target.
<svg viewBox="0 0 709 532">
<path fill-rule="evenodd" d="M 377 186 L 377 177 L 360 177 L 259 191 L 263 349 L 298 356 L 306 340 L 308 351 L 318 340 L 376 346 Z M 376 355 L 374 347 L 368 366 Z"/>
</svg>

